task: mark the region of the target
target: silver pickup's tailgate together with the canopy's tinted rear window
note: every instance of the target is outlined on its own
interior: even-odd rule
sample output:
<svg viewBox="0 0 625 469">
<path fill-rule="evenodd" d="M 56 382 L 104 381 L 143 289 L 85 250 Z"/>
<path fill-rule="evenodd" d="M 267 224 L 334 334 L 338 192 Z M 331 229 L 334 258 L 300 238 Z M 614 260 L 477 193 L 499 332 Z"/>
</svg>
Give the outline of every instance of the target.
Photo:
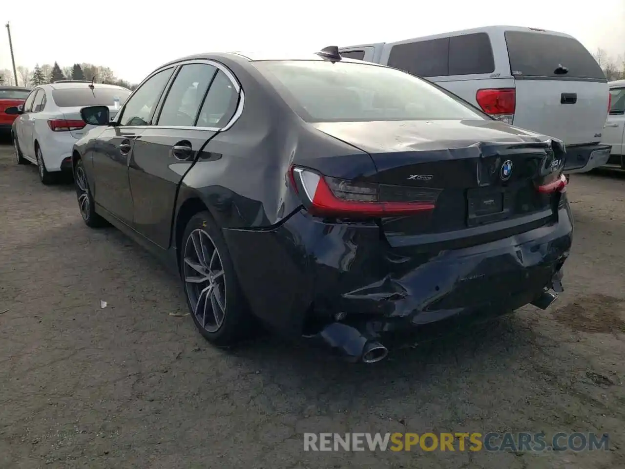
<svg viewBox="0 0 625 469">
<path fill-rule="evenodd" d="M 516 88 L 512 124 L 567 145 L 598 143 L 609 88 L 589 51 L 564 34 L 506 31 L 504 35 Z"/>
</svg>

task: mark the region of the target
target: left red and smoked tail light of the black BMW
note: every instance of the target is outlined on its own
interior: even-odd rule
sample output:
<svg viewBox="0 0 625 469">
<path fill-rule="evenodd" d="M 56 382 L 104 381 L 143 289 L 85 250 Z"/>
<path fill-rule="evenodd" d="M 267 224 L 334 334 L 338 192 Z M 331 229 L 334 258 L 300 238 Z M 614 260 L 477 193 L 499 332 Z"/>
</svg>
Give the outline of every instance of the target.
<svg viewBox="0 0 625 469">
<path fill-rule="evenodd" d="M 371 184 L 328 178 L 292 166 L 291 183 L 304 207 L 316 216 L 340 218 L 400 216 L 436 208 L 440 189 Z"/>
</svg>

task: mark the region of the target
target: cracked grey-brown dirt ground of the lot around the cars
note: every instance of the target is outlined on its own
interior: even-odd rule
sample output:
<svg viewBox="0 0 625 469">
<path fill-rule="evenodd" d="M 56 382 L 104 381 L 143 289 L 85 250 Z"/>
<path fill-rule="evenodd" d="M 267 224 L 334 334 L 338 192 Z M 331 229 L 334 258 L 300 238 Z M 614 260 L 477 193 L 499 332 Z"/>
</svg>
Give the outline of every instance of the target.
<svg viewBox="0 0 625 469">
<path fill-rule="evenodd" d="M 569 194 L 550 310 L 349 366 L 271 337 L 207 345 L 174 278 L 2 146 L 0 468 L 625 467 L 625 178 Z M 305 431 L 594 431 L 610 450 L 311 453 Z"/>
</svg>

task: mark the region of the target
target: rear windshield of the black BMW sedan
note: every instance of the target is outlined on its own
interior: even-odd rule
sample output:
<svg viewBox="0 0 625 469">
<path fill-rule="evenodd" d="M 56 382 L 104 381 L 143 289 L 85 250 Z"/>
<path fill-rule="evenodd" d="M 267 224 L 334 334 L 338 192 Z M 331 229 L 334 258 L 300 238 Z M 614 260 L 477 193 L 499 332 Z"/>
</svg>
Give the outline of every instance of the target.
<svg viewBox="0 0 625 469">
<path fill-rule="evenodd" d="M 486 119 L 451 94 L 392 68 L 304 60 L 254 65 L 306 122 Z"/>
</svg>

